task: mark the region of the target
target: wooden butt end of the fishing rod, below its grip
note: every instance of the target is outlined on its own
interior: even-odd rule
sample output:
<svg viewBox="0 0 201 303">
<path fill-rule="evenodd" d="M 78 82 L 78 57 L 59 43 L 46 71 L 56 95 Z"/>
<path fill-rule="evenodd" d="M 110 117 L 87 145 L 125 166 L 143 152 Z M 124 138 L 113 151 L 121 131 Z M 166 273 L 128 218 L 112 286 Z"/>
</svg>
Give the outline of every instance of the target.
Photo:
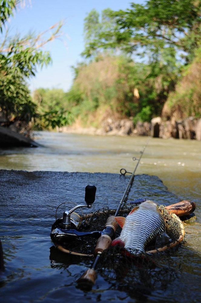
<svg viewBox="0 0 201 303">
<path fill-rule="evenodd" d="M 95 284 L 97 273 L 93 268 L 87 269 L 84 274 L 77 280 L 77 287 L 89 291 Z"/>
</svg>

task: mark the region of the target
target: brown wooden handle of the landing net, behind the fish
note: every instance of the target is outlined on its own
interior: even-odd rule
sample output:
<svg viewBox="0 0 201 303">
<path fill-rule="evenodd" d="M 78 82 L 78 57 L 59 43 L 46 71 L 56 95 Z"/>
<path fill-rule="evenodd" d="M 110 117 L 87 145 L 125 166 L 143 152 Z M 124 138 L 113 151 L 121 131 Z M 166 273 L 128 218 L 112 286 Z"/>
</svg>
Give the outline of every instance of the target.
<svg viewBox="0 0 201 303">
<path fill-rule="evenodd" d="M 190 215 L 195 209 L 196 204 L 191 200 L 184 200 L 165 207 L 166 210 L 178 217 Z"/>
</svg>

